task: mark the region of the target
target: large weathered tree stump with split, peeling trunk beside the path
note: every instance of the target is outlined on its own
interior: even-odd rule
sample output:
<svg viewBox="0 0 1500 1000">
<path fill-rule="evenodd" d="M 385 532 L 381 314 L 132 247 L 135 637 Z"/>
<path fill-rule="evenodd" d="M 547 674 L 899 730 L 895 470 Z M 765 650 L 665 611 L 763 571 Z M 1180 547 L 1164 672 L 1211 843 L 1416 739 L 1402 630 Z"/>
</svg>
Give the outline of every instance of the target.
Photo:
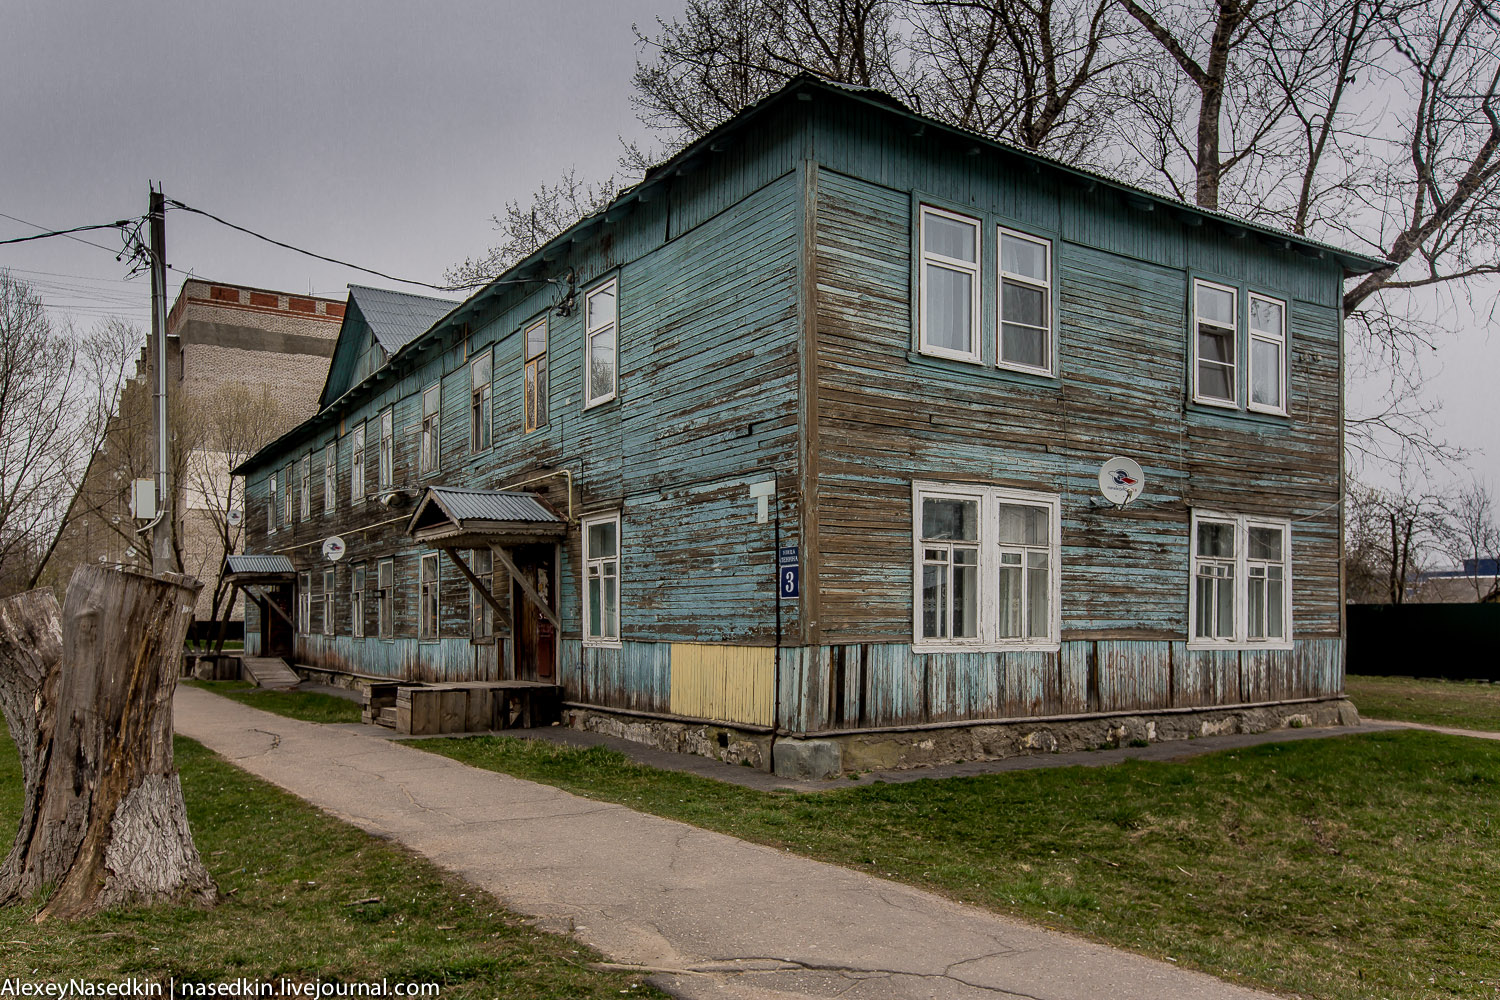
<svg viewBox="0 0 1500 1000">
<path fill-rule="evenodd" d="M 54 891 L 36 919 L 129 903 L 210 904 L 172 766 L 172 693 L 201 585 L 81 567 L 0 601 L 0 708 L 26 804 L 0 906 Z"/>
</svg>

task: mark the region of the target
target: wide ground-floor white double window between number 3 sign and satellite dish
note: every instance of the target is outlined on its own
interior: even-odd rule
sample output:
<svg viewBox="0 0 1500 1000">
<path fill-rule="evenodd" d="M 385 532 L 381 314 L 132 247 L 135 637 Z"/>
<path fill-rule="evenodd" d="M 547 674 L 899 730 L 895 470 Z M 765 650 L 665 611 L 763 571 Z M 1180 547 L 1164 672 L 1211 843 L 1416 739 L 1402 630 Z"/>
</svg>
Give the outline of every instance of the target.
<svg viewBox="0 0 1500 1000">
<path fill-rule="evenodd" d="M 1056 649 L 1058 496 L 914 483 L 916 649 Z"/>
</svg>

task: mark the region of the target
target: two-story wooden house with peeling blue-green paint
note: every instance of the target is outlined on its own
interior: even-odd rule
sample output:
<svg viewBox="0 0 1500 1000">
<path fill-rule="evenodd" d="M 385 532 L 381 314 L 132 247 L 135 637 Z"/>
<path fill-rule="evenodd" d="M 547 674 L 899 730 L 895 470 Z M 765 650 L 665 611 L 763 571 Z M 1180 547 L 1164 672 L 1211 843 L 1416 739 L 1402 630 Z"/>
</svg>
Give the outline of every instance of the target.
<svg viewBox="0 0 1500 1000">
<path fill-rule="evenodd" d="M 800 78 L 394 349 L 351 303 L 246 552 L 298 664 L 788 771 L 1338 721 L 1378 264 Z"/>
</svg>

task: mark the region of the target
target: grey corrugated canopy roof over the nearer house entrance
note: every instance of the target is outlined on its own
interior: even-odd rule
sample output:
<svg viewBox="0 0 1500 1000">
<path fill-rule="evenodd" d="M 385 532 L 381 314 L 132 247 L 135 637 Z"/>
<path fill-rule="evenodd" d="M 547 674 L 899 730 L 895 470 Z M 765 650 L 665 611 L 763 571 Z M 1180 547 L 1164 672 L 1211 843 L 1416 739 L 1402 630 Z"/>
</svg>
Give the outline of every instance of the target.
<svg viewBox="0 0 1500 1000">
<path fill-rule="evenodd" d="M 429 486 L 406 534 L 436 549 L 512 547 L 561 538 L 567 522 L 532 493 Z"/>
</svg>

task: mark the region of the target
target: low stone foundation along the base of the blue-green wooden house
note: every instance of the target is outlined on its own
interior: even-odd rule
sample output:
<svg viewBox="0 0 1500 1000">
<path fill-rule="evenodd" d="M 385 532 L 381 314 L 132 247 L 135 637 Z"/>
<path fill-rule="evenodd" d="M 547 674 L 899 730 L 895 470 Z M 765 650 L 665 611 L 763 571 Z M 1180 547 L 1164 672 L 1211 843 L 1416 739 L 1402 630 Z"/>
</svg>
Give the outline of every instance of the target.
<svg viewBox="0 0 1500 1000">
<path fill-rule="evenodd" d="M 1071 715 L 974 726 L 818 733 L 806 739 L 753 733 L 734 726 L 692 723 L 598 709 L 566 709 L 562 723 L 658 750 L 694 753 L 726 763 L 772 769 L 784 778 L 824 780 L 867 771 L 900 771 L 960 760 L 1146 745 L 1272 729 L 1358 726 L 1347 699 L 1286 705 L 1173 709 L 1120 715 Z"/>
</svg>

